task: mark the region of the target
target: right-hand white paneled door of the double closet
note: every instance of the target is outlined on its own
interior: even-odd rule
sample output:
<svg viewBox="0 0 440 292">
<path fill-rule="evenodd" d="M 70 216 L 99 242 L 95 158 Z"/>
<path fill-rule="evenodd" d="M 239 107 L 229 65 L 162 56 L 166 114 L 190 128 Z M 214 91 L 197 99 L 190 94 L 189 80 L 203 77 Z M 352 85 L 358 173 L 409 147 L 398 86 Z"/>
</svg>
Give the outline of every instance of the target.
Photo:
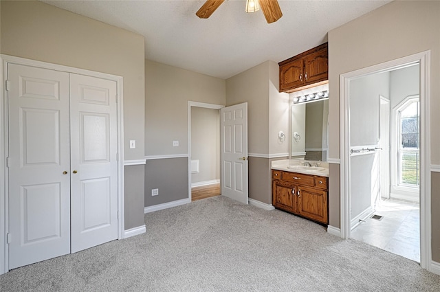
<svg viewBox="0 0 440 292">
<path fill-rule="evenodd" d="M 70 75 L 72 253 L 118 238 L 116 82 Z"/>
</svg>

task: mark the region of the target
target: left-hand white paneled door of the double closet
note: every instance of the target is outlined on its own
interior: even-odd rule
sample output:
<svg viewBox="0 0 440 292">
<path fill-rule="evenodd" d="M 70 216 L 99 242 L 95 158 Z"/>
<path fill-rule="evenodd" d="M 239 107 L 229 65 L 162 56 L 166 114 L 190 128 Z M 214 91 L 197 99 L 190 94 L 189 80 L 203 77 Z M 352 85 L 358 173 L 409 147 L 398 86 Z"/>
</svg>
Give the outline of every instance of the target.
<svg viewBox="0 0 440 292">
<path fill-rule="evenodd" d="M 8 80 L 14 269 L 70 252 L 69 74 L 9 64 Z"/>
</svg>

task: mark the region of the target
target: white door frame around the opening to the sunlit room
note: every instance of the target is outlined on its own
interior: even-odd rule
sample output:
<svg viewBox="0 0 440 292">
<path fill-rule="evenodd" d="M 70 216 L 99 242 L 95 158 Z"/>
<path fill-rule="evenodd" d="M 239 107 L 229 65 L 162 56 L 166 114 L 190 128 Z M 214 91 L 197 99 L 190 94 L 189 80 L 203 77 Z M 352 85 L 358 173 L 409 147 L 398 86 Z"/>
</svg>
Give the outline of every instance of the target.
<svg viewBox="0 0 440 292">
<path fill-rule="evenodd" d="M 350 238 L 350 80 L 419 63 L 420 68 L 420 265 L 433 271 L 431 249 L 431 175 L 430 175 L 430 51 L 420 52 L 340 75 L 340 232 Z"/>
</svg>

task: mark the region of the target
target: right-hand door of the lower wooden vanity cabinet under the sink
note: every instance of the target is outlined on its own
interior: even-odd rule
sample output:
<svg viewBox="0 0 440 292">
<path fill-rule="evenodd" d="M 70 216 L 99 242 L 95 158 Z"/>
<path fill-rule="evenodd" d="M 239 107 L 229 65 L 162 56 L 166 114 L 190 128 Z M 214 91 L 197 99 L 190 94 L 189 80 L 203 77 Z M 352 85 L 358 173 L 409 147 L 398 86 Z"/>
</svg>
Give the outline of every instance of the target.
<svg viewBox="0 0 440 292">
<path fill-rule="evenodd" d="M 298 214 L 314 221 L 328 224 L 327 192 L 314 188 L 298 187 Z"/>
</svg>

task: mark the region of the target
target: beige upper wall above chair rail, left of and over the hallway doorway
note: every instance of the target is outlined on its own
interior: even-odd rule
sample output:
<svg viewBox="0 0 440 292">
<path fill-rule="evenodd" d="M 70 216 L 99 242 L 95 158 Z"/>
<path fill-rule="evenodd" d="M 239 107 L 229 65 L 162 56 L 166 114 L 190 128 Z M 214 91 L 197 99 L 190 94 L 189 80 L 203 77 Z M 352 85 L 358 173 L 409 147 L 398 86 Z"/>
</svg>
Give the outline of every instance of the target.
<svg viewBox="0 0 440 292">
<path fill-rule="evenodd" d="M 188 154 L 188 101 L 224 105 L 225 80 L 145 60 L 145 155 Z"/>
</svg>

